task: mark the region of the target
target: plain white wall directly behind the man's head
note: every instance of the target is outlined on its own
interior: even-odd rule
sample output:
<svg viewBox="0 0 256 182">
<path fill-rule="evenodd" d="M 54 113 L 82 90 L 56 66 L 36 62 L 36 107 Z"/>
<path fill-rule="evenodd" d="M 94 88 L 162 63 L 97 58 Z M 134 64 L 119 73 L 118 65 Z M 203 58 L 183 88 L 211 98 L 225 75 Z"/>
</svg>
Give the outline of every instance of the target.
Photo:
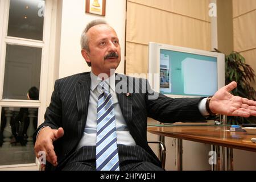
<svg viewBox="0 0 256 182">
<path fill-rule="evenodd" d="M 85 13 L 85 0 L 63 1 L 60 38 L 59 78 L 76 73 L 90 71 L 81 56 L 80 36 L 86 24 L 93 19 L 105 19 L 117 32 L 121 45 L 122 60 L 117 68 L 118 73 L 124 73 L 125 58 L 125 0 L 106 1 L 106 15 Z"/>
</svg>

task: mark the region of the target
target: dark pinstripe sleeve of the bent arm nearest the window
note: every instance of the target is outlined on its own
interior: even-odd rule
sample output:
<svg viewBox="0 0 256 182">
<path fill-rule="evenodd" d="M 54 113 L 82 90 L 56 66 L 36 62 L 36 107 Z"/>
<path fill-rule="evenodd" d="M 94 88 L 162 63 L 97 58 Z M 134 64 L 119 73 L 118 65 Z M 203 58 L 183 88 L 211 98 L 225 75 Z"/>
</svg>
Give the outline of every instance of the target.
<svg viewBox="0 0 256 182">
<path fill-rule="evenodd" d="M 61 100 L 59 96 L 59 81 L 57 80 L 54 85 L 54 90 L 51 97 L 51 103 L 46 109 L 44 114 L 44 122 L 36 129 L 33 139 L 36 140 L 38 131 L 44 126 L 49 126 L 51 129 L 58 129 L 61 127 Z"/>
</svg>

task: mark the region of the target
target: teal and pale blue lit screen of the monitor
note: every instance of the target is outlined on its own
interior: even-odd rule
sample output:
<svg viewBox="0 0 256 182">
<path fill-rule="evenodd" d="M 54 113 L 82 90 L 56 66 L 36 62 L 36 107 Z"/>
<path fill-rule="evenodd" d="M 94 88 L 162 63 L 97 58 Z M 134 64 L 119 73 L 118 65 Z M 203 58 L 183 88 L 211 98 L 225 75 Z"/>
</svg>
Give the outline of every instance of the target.
<svg viewBox="0 0 256 182">
<path fill-rule="evenodd" d="M 217 57 L 160 49 L 160 93 L 210 96 L 217 84 Z"/>
</svg>

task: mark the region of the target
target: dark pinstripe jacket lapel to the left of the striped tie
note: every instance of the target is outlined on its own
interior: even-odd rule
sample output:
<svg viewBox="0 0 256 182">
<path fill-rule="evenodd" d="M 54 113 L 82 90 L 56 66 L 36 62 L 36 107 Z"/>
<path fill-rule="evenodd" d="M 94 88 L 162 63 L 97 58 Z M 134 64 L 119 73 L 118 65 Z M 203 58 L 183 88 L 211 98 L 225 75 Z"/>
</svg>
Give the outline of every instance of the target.
<svg viewBox="0 0 256 182">
<path fill-rule="evenodd" d="M 78 110 L 78 121 L 77 127 L 79 131 L 79 136 L 82 135 L 82 132 L 85 127 L 86 118 L 88 114 L 88 105 L 90 97 L 90 72 L 89 74 L 83 75 L 79 84 L 76 86 L 76 101 L 77 101 L 77 110 Z"/>
</svg>

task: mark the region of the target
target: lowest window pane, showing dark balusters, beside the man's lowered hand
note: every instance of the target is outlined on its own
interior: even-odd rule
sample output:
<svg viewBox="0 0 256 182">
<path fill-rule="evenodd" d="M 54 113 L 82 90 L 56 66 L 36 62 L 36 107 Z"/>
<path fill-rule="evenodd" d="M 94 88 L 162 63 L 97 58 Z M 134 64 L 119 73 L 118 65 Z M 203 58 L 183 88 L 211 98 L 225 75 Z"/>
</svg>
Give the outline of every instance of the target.
<svg viewBox="0 0 256 182">
<path fill-rule="evenodd" d="M 35 163 L 32 136 L 38 126 L 38 108 L 2 107 L 0 166 Z"/>
</svg>

